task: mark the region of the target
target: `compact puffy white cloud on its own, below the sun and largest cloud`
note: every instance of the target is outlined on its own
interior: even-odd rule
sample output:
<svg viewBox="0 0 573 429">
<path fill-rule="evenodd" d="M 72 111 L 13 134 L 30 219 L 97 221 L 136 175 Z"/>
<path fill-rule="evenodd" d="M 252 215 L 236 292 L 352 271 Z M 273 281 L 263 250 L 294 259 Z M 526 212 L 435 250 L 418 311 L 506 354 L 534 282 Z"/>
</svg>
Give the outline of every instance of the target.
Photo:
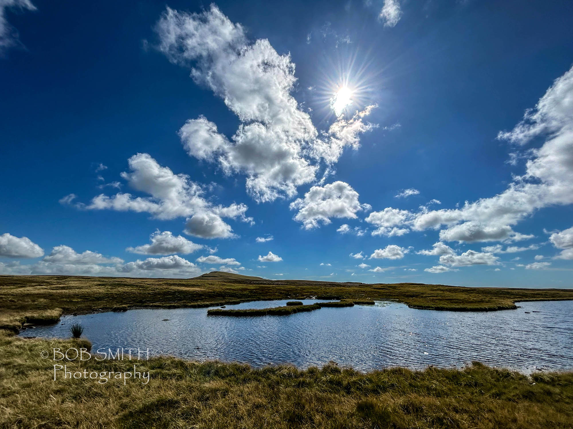
<svg viewBox="0 0 573 429">
<path fill-rule="evenodd" d="M 312 229 L 319 227 L 320 223 L 331 223 L 331 217 L 356 219 L 356 212 L 371 207 L 360 204 L 358 192 L 350 185 L 336 181 L 324 186 L 312 186 L 304 194 L 304 199 L 293 201 L 290 208 L 299 210 L 293 219 L 302 222 L 305 229 Z"/>
</svg>

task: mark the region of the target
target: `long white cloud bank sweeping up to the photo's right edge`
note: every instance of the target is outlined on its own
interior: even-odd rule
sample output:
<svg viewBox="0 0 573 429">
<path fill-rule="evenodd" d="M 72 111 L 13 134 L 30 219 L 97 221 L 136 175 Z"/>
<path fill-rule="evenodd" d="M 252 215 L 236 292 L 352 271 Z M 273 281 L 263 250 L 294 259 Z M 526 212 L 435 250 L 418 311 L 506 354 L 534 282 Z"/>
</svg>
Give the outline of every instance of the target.
<svg viewBox="0 0 573 429">
<path fill-rule="evenodd" d="M 498 138 L 524 145 L 535 137 L 544 144 L 530 149 L 525 173 L 494 197 L 466 202 L 460 209 L 422 210 L 411 222 L 416 231 L 449 228 L 441 240 L 518 241 L 530 238 L 513 231 L 512 225 L 535 210 L 573 204 L 573 67 L 559 77 L 523 121 Z M 461 224 L 460 224 L 461 223 Z"/>
</svg>

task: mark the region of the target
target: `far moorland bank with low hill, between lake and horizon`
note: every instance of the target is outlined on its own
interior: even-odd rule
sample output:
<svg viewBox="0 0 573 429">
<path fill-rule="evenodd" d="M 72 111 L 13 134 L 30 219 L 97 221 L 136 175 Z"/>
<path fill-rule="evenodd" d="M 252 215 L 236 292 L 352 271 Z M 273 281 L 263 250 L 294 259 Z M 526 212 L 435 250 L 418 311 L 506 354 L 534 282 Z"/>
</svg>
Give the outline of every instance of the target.
<svg viewBox="0 0 573 429">
<path fill-rule="evenodd" d="M 65 313 L 129 308 L 210 307 L 249 300 L 340 299 L 354 303 L 398 300 L 414 308 L 493 311 L 516 301 L 573 299 L 573 289 L 464 288 L 419 283 L 363 284 L 265 280 L 210 273 L 195 279 L 79 276 L 0 276 L 0 328 Z"/>
</svg>

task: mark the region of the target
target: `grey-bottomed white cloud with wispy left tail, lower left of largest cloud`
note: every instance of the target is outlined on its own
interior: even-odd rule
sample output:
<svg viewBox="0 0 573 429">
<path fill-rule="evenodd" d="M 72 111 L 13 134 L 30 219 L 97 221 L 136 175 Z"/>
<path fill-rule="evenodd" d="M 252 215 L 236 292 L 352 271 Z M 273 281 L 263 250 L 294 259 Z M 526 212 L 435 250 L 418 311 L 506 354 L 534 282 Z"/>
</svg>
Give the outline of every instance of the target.
<svg viewBox="0 0 573 429">
<path fill-rule="evenodd" d="M 239 218 L 253 223 L 251 217 L 245 216 L 248 209 L 245 204 L 233 203 L 227 207 L 213 205 L 206 200 L 202 187 L 191 181 L 187 174 L 174 174 L 171 169 L 160 166 L 147 153 L 132 156 L 128 165 L 129 172 L 121 173 L 121 177 L 127 180 L 131 188 L 147 193 L 150 197 L 135 197 L 121 192 L 111 197 L 100 194 L 90 204 L 76 206 L 87 210 L 144 212 L 160 220 L 187 217 L 185 232 L 206 239 L 236 237 L 222 217 Z"/>
</svg>

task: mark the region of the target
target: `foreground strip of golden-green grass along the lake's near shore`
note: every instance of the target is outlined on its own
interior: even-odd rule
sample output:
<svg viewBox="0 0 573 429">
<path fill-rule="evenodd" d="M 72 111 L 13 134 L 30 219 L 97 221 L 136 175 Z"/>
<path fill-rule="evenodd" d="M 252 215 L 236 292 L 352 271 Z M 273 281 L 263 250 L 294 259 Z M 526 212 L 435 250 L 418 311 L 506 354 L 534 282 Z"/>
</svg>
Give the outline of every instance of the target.
<svg viewBox="0 0 573 429">
<path fill-rule="evenodd" d="M 174 358 L 136 362 L 139 381 L 53 380 L 40 353 L 82 345 L 0 333 L 2 428 L 571 428 L 573 374 L 403 368 L 361 374 Z M 85 344 L 84 344 L 85 345 Z M 66 362 L 68 371 L 132 371 L 134 361 Z"/>
</svg>

